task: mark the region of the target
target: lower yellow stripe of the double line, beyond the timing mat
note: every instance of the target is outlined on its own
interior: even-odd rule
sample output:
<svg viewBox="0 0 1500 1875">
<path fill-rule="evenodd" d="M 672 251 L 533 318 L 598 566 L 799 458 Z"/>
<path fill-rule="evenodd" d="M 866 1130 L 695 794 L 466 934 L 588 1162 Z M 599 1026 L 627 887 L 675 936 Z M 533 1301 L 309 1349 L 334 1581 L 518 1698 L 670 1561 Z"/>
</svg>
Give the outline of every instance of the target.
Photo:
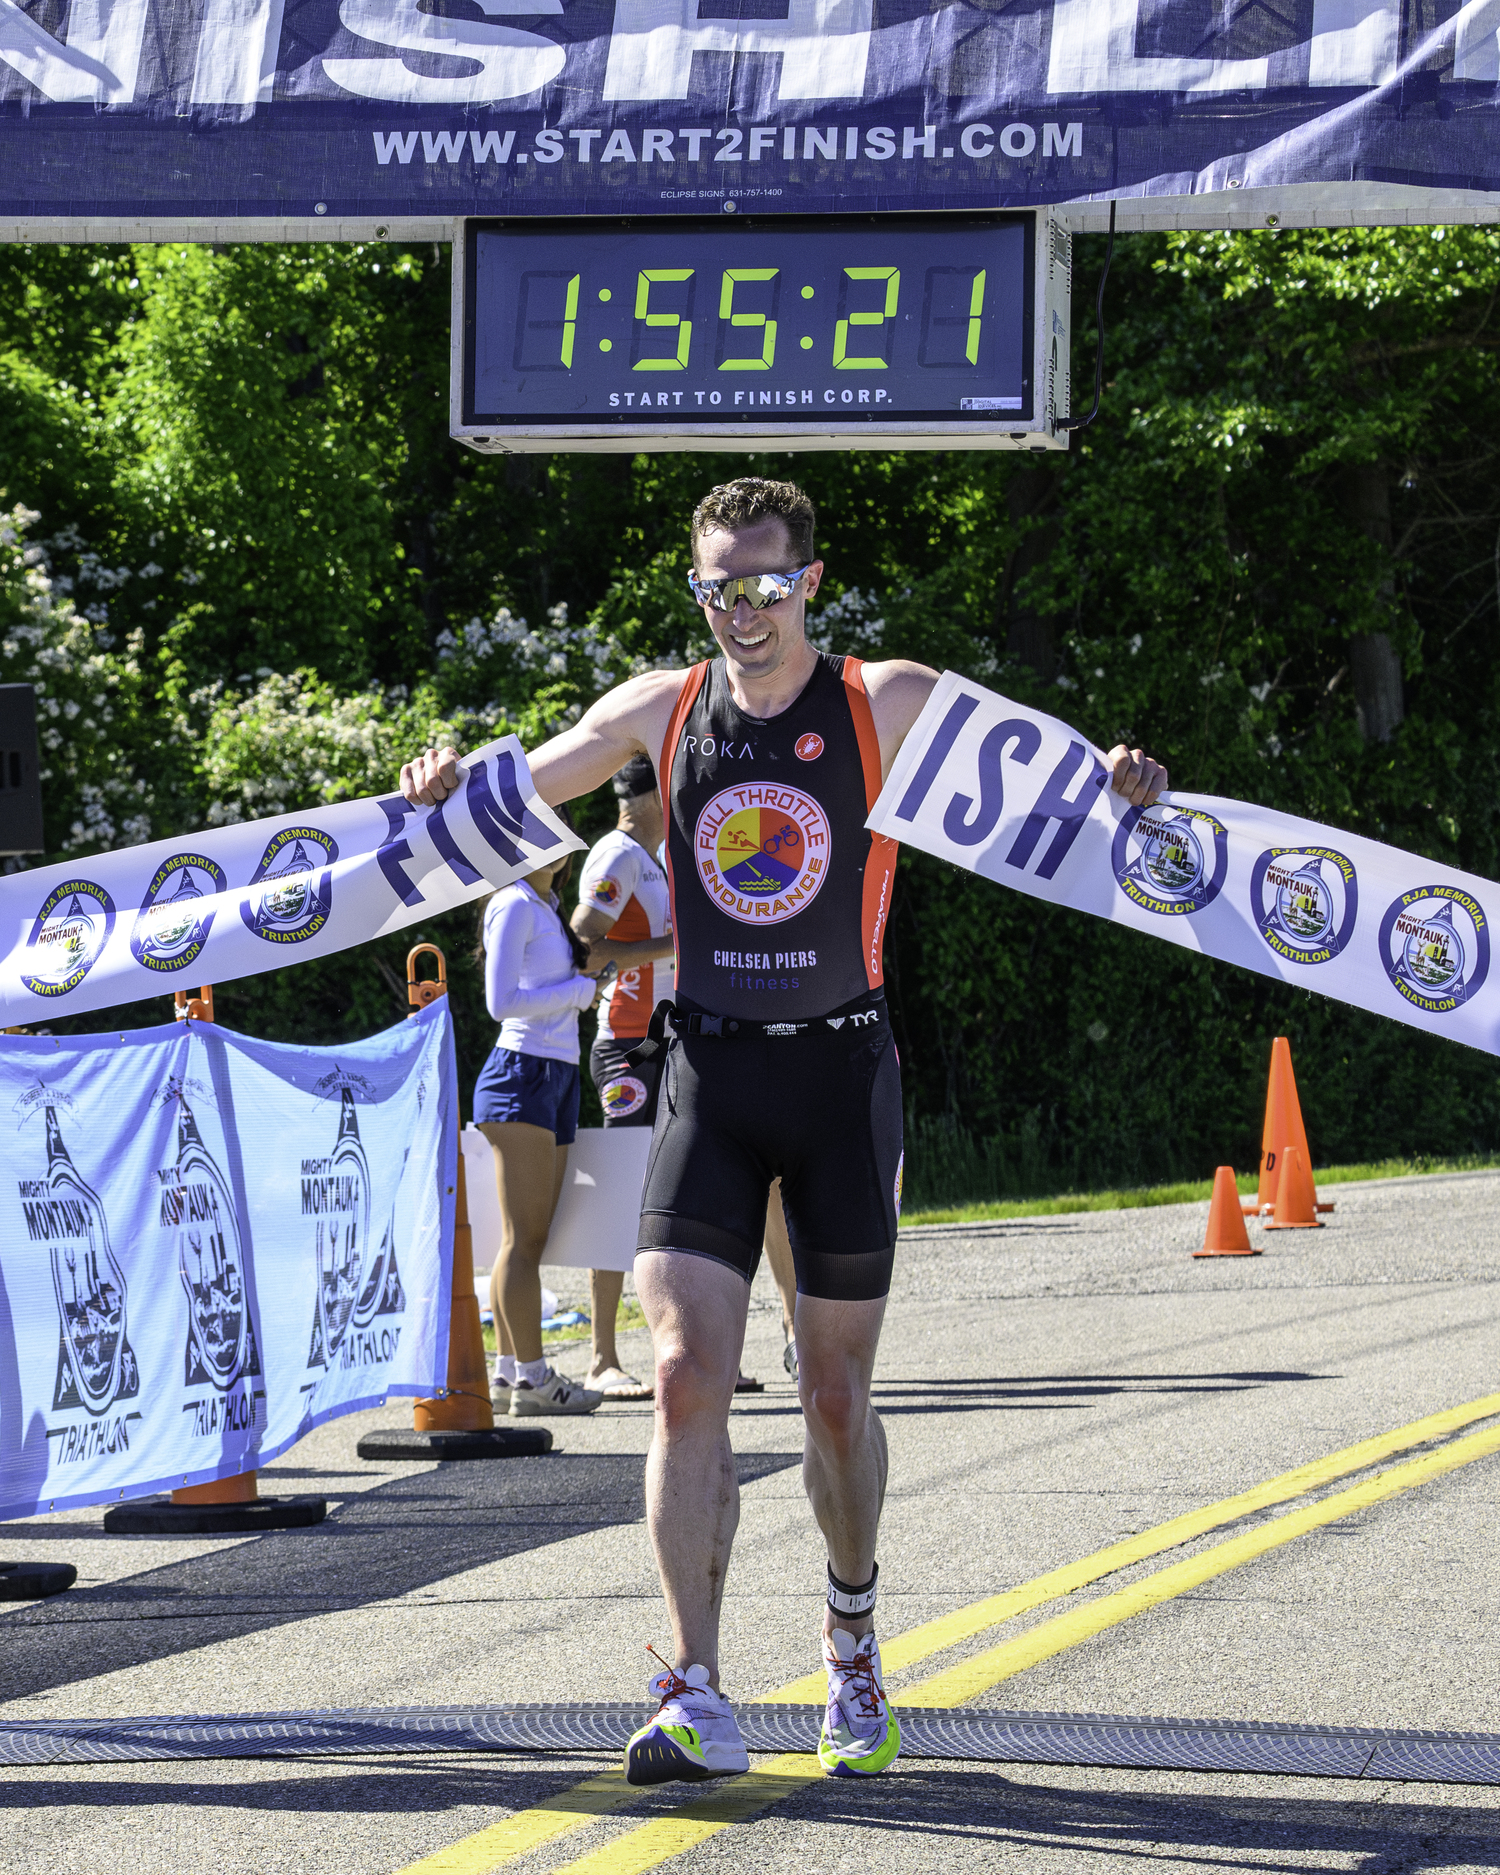
<svg viewBox="0 0 1500 1875">
<path fill-rule="evenodd" d="M 1288 1511 L 1284 1517 L 1273 1517 L 1256 1530 L 1230 1538 L 1228 1543 L 1215 1543 L 1213 1549 L 1176 1562 L 1170 1569 L 1157 1569 L 1155 1575 L 1131 1582 L 1129 1588 L 1118 1588 L 1112 1596 L 1101 1596 L 1099 1601 L 1088 1601 L 1082 1609 L 1041 1622 L 1028 1633 L 1016 1635 L 1014 1641 L 1003 1641 L 958 1667 L 949 1667 L 947 1672 L 919 1680 L 917 1686 L 904 1689 L 900 1702 L 904 1706 L 962 1706 L 966 1699 L 986 1693 L 1001 1680 L 1009 1680 L 1011 1674 L 1052 1659 L 1054 1654 L 1078 1646 L 1080 1641 L 1089 1641 L 1108 1628 L 1118 1628 L 1132 1614 L 1144 1614 L 1174 1596 L 1187 1594 L 1189 1588 L 1211 1582 L 1215 1575 L 1224 1575 L 1268 1551 L 1281 1549 L 1282 1543 L 1296 1541 L 1309 1530 L 1339 1522 L 1341 1517 L 1352 1517 L 1371 1504 L 1393 1498 L 1399 1491 L 1416 1491 L 1419 1485 L 1431 1483 L 1446 1472 L 1455 1472 L 1461 1464 L 1485 1459 L 1492 1451 L 1500 1451 L 1500 1427 L 1461 1438 L 1425 1459 L 1412 1459 L 1410 1464 L 1391 1466 L 1389 1472 L 1367 1478 L 1361 1485 L 1341 1491 L 1337 1496 Z"/>
</svg>

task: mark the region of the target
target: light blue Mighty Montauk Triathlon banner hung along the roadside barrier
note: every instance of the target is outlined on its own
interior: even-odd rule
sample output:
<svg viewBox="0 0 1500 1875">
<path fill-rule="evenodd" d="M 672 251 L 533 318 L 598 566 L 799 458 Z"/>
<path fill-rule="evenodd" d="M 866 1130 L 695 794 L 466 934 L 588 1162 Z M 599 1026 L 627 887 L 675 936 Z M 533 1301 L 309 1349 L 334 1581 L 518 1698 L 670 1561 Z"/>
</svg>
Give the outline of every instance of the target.
<svg viewBox="0 0 1500 1875">
<path fill-rule="evenodd" d="M 255 1470 L 448 1372 L 446 998 L 345 1048 L 0 1035 L 0 1519 Z"/>
</svg>

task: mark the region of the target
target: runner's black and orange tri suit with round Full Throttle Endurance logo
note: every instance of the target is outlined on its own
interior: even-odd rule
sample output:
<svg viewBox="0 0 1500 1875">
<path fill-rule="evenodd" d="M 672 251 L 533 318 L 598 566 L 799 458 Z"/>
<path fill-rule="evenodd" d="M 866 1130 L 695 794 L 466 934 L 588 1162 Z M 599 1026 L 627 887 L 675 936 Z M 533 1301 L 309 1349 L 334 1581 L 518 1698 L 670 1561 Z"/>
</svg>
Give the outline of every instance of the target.
<svg viewBox="0 0 1500 1875">
<path fill-rule="evenodd" d="M 896 842 L 864 829 L 881 774 L 859 658 L 821 654 L 769 722 L 739 711 L 722 658 L 696 666 L 656 772 L 677 994 L 639 1247 L 750 1281 L 780 1178 L 797 1288 L 872 1301 L 891 1288 L 902 1086 L 881 968 Z"/>
</svg>

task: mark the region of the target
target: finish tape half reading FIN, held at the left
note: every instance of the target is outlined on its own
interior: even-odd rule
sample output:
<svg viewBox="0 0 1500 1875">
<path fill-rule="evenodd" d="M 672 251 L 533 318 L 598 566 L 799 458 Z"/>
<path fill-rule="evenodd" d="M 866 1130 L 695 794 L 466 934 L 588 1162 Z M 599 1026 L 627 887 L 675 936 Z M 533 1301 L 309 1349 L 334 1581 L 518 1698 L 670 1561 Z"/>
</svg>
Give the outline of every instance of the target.
<svg viewBox="0 0 1500 1875">
<path fill-rule="evenodd" d="M 379 795 L 9 874 L 0 1028 L 347 951 L 583 849 L 514 735 L 463 776 L 441 808 Z"/>
</svg>

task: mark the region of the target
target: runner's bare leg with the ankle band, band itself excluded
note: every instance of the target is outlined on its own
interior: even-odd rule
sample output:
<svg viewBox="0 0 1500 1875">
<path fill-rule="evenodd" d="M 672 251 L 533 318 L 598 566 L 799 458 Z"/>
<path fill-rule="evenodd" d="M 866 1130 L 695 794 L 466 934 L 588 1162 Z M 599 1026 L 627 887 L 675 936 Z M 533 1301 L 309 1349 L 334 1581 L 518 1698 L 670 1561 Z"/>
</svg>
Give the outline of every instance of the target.
<svg viewBox="0 0 1500 1875">
<path fill-rule="evenodd" d="M 868 1582 L 885 1502 L 885 1429 L 870 1404 L 881 1301 L 797 1298 L 797 1361 L 806 1444 L 802 1485 L 842 1582 Z M 874 1614 L 823 1611 L 823 1628 L 864 1635 Z"/>
</svg>

